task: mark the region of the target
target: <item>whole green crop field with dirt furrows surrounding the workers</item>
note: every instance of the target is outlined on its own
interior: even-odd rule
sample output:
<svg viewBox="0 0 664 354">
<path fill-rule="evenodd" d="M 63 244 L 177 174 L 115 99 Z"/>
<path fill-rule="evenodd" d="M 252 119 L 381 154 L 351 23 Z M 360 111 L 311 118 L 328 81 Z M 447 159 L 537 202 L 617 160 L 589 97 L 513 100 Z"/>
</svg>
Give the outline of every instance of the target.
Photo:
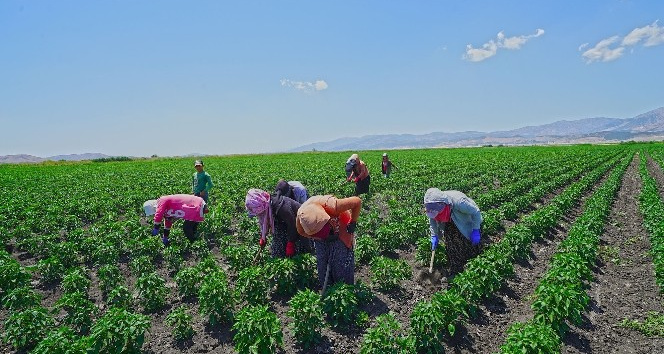
<svg viewBox="0 0 664 354">
<path fill-rule="evenodd" d="M 359 153 L 372 183 L 357 229 L 358 284 L 325 299 L 306 297 L 320 290 L 312 255 L 267 251 L 252 265 L 259 229 L 244 197 L 281 178 L 310 195 L 350 196 L 350 152 L 205 158 L 211 212 L 199 241 L 179 222 L 168 248 L 150 235 L 142 204 L 191 193 L 191 158 L 0 165 L 0 349 L 664 348 L 661 324 L 641 325 L 664 315 L 664 144 L 395 150 L 390 178 L 383 151 Z M 443 277 L 444 248 L 437 271 L 424 272 L 429 187 L 463 191 L 482 210 L 484 251 L 453 280 Z M 296 330 L 307 323 L 311 333 Z"/>
</svg>

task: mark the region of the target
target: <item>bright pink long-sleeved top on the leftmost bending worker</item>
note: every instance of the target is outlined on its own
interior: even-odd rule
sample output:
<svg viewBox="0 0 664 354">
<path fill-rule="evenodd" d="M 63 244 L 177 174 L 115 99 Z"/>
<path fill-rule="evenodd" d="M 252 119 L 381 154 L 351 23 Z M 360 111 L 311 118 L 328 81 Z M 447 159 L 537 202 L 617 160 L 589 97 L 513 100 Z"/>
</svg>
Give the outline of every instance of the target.
<svg viewBox="0 0 664 354">
<path fill-rule="evenodd" d="M 154 214 L 154 224 L 161 225 L 165 219 L 164 227 L 170 229 L 174 219 L 202 222 L 205 201 L 201 197 L 191 194 L 165 195 L 157 199 L 157 212 Z"/>
</svg>

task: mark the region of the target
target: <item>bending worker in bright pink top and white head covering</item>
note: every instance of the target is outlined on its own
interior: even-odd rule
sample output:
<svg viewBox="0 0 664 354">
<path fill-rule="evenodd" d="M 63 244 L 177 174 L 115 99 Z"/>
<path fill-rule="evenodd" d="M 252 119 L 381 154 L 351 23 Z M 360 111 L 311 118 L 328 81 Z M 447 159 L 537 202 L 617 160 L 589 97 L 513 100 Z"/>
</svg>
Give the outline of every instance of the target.
<svg viewBox="0 0 664 354">
<path fill-rule="evenodd" d="M 170 243 L 168 236 L 175 219 L 184 219 L 184 235 L 189 241 L 193 241 L 198 223 L 205 220 L 204 214 L 207 213 L 203 198 L 191 194 L 165 195 L 157 200 L 148 200 L 143 203 L 143 210 L 146 216 L 154 215 L 152 236 L 159 234 L 161 224 L 165 220 L 164 234 L 161 237 L 164 246 Z"/>
</svg>

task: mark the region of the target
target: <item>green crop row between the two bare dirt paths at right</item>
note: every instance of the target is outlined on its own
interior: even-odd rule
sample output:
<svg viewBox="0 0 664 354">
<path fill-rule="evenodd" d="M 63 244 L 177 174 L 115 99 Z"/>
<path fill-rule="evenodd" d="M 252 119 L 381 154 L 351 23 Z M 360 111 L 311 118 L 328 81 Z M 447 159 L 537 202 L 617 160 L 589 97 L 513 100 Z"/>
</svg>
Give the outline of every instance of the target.
<svg viewBox="0 0 664 354">
<path fill-rule="evenodd" d="M 583 214 L 558 245 L 549 269 L 535 289 L 533 319 L 508 329 L 502 353 L 559 352 L 560 338 L 569 330 L 568 322 L 581 324 L 590 302 L 586 291 L 592 280 L 600 236 L 629 162 L 631 159 L 619 165 L 586 200 Z"/>
</svg>

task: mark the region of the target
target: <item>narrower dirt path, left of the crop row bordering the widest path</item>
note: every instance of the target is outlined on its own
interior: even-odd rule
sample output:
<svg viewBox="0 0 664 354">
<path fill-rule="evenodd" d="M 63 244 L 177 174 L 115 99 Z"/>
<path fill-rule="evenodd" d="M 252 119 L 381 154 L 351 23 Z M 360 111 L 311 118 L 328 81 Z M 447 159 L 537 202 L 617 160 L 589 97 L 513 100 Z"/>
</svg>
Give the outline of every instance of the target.
<svg viewBox="0 0 664 354">
<path fill-rule="evenodd" d="M 581 198 L 554 230 L 532 245 L 529 260 L 514 264 L 514 277 L 507 280 L 499 293 L 480 305 L 478 317 L 471 319 L 460 334 L 455 335 L 447 350 L 455 353 L 498 352 L 505 342 L 509 326 L 533 317 L 529 296 L 548 269 L 558 245 L 567 237 L 571 224 L 583 212 L 585 200 L 606 181 L 610 171 Z"/>
</svg>

